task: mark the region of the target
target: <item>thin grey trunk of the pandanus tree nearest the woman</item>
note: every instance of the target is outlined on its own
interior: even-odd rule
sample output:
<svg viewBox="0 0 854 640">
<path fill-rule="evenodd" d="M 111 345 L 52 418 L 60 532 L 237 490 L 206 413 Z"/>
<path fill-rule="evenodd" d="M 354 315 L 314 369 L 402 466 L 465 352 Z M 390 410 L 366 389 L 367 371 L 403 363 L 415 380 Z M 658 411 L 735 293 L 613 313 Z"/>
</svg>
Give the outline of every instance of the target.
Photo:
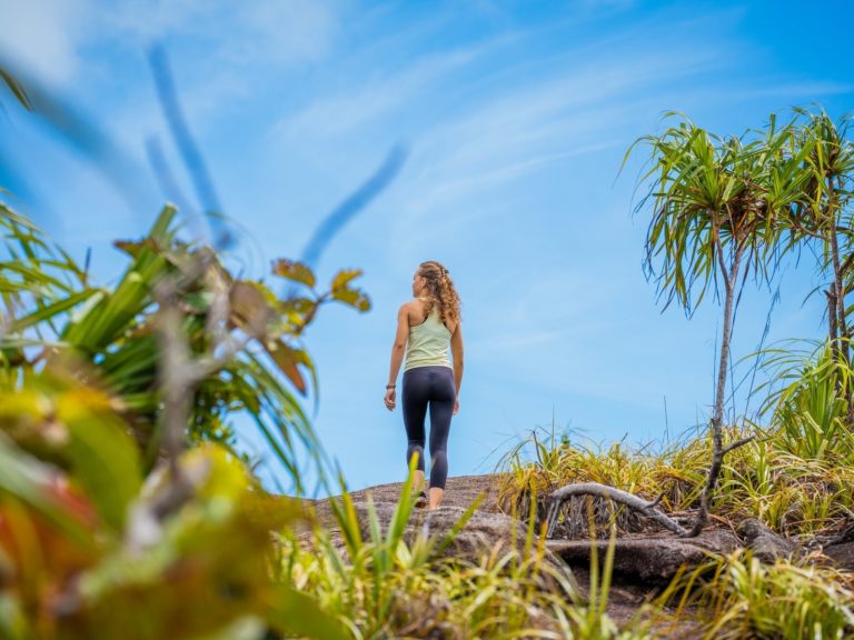
<svg viewBox="0 0 854 640">
<path fill-rule="evenodd" d="M 703 488 L 703 494 L 699 501 L 699 512 L 694 521 L 694 527 L 687 533 L 687 538 L 699 536 L 703 527 L 708 519 L 708 506 L 717 484 L 717 477 L 721 474 L 721 467 L 724 461 L 724 397 L 726 393 L 726 371 L 729 366 L 729 341 L 733 330 L 733 299 L 735 298 L 735 284 L 738 280 L 738 272 L 742 263 L 742 252 L 744 248 L 736 246 L 733 264 L 729 269 L 729 276 L 726 278 L 726 298 L 724 301 L 724 327 L 721 337 L 721 359 L 717 366 L 717 388 L 715 389 L 715 408 L 712 414 L 712 466 L 708 469 L 706 484 Z"/>
</svg>

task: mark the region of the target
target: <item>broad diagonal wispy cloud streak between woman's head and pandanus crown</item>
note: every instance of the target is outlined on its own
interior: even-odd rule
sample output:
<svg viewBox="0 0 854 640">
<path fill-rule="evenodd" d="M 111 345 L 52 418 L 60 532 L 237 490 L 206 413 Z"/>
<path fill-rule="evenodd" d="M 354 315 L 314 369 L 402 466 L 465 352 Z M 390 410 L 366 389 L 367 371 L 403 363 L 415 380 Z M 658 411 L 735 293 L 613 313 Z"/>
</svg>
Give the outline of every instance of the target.
<svg viewBox="0 0 854 640">
<path fill-rule="evenodd" d="M 483 202 L 485 191 L 547 164 L 624 144 L 651 92 L 665 93 L 681 78 L 721 63 L 712 49 L 699 47 L 634 57 L 608 50 L 574 67 L 558 64 L 558 72 L 538 82 L 515 79 L 463 116 L 436 123 L 416 139 L 418 157 L 405 178 L 406 190 L 418 198 L 396 202 L 399 251 L 435 240 L 425 223 L 438 210 L 468 210 L 451 224 L 474 222 L 488 208 L 467 209 L 467 197 L 479 194 Z M 426 236 L 408 231 L 425 227 Z"/>
</svg>

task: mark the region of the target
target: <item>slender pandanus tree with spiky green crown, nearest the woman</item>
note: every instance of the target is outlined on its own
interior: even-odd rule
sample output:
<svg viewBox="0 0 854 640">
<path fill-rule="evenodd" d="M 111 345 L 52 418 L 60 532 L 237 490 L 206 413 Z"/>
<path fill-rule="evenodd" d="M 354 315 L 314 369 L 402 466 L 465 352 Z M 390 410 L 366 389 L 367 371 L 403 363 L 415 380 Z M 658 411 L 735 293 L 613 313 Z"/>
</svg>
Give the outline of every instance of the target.
<svg viewBox="0 0 854 640">
<path fill-rule="evenodd" d="M 712 462 L 694 527 L 698 534 L 708 518 L 724 456 L 749 438 L 724 447 L 724 404 L 733 319 L 747 278 L 768 281 L 781 258 L 794 244 L 785 234 L 787 213 L 803 198 L 810 178 L 808 144 L 795 144 L 790 126 L 777 128 L 772 117 L 765 131 L 722 138 L 687 118 L 661 136 L 638 144 L 652 152 L 652 167 L 640 178 L 652 188 L 637 209 L 651 208 L 645 271 L 655 281 L 665 309 L 677 302 L 694 310 L 712 287 L 723 294 L 721 350 L 709 423 Z M 785 239 L 788 238 L 788 241 Z"/>
</svg>

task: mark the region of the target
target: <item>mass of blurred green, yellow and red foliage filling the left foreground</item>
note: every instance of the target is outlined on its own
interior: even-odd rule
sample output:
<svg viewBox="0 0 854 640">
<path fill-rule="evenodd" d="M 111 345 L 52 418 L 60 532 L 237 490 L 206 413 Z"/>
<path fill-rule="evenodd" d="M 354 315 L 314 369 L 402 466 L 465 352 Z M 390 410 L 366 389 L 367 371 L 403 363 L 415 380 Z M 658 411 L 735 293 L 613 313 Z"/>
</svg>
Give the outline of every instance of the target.
<svg viewBox="0 0 854 640">
<path fill-rule="evenodd" d="M 307 267 L 282 259 L 274 274 L 307 292 L 279 299 L 181 240 L 167 207 L 145 238 L 116 243 L 130 263 L 96 286 L 3 204 L 0 226 L 0 637 L 339 637 L 272 579 L 271 532 L 306 516 L 261 488 L 232 449 L 231 418 L 251 417 L 300 493 L 296 443 L 318 466 L 321 450 L 298 400 L 307 378 L 317 388 L 299 338 L 324 302 L 369 309 L 351 288 L 360 272 L 318 293 Z M 165 282 L 176 296 L 158 292 Z M 173 460 L 163 304 L 206 373 Z"/>
</svg>

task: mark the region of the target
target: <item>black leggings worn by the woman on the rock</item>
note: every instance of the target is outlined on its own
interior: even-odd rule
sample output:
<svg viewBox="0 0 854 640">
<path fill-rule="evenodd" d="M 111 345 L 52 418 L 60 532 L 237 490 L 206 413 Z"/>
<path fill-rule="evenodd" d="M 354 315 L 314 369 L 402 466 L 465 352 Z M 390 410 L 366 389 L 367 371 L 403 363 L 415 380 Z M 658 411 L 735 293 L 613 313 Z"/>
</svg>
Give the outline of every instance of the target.
<svg viewBox="0 0 854 640">
<path fill-rule="evenodd" d="M 449 367 L 414 367 L 404 371 L 404 424 L 409 444 L 406 462 L 418 453 L 418 470 L 424 471 L 424 418 L 430 406 L 430 488 L 445 489 L 448 477 L 448 430 L 457 390 Z"/>
</svg>

